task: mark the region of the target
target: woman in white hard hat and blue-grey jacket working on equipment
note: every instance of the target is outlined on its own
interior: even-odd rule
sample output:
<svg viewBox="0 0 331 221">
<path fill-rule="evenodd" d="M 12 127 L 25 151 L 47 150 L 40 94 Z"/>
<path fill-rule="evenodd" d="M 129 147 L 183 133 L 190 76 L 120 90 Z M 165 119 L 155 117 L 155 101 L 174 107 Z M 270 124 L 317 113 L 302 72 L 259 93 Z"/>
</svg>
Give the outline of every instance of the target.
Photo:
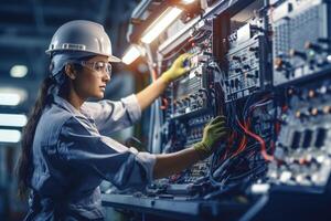
<svg viewBox="0 0 331 221">
<path fill-rule="evenodd" d="M 65 23 L 46 53 L 51 75 L 24 128 L 19 161 L 20 193 L 31 190 L 26 220 L 102 220 L 102 180 L 120 189 L 143 188 L 207 157 L 226 134 L 224 117 L 217 117 L 201 143 L 168 155 L 138 152 L 107 137 L 132 125 L 170 82 L 188 71 L 188 54 L 137 95 L 89 103 L 88 97 L 104 97 L 109 62 L 120 61 L 111 54 L 104 28 L 83 20 Z"/>
</svg>

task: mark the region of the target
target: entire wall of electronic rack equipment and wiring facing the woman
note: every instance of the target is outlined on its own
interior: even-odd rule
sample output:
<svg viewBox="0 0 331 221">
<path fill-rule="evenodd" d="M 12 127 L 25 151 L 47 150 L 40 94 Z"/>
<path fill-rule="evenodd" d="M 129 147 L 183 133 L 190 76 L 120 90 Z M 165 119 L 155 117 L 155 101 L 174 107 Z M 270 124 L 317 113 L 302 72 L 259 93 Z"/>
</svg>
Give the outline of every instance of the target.
<svg viewBox="0 0 331 221">
<path fill-rule="evenodd" d="M 167 88 L 152 112 L 158 124 L 151 124 L 149 149 L 188 148 L 217 115 L 226 115 L 232 131 L 209 159 L 149 186 L 138 194 L 139 203 L 147 199 L 148 212 L 197 220 L 277 220 L 286 218 L 268 207 L 275 202 L 277 211 L 295 194 L 293 204 L 313 209 L 290 204 L 287 220 L 327 213 L 330 1 L 205 1 L 202 14 L 188 18 L 173 22 L 158 43 L 145 45 L 156 75 L 177 55 L 193 54 L 188 61 L 193 69 Z"/>
</svg>

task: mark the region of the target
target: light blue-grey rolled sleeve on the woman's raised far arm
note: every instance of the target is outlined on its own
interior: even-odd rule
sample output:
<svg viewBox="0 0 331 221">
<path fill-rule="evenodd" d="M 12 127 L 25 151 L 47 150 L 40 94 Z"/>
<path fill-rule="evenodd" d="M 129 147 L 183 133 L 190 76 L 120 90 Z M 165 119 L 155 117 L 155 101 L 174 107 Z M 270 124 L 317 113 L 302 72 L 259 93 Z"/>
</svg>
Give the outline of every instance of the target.
<svg viewBox="0 0 331 221">
<path fill-rule="evenodd" d="M 102 135 L 129 127 L 141 116 L 141 108 L 135 94 L 118 102 L 109 99 L 86 102 L 82 108 L 95 120 Z"/>
</svg>

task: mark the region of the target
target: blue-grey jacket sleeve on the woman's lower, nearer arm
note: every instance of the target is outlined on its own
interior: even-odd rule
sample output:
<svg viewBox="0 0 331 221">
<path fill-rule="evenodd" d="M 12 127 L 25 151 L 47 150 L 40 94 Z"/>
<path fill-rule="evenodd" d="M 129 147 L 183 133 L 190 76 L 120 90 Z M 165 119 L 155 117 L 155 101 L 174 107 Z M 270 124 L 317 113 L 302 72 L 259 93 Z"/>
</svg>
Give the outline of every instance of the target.
<svg viewBox="0 0 331 221">
<path fill-rule="evenodd" d="M 152 180 L 154 155 L 99 135 L 84 118 L 72 117 L 63 125 L 57 152 L 71 167 L 92 171 L 119 189 L 140 189 Z"/>
</svg>

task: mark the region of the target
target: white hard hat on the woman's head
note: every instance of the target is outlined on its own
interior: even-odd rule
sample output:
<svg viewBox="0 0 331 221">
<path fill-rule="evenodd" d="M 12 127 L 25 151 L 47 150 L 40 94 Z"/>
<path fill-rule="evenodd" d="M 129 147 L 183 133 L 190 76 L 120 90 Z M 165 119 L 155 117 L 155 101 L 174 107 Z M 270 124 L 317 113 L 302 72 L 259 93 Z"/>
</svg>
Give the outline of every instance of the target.
<svg viewBox="0 0 331 221">
<path fill-rule="evenodd" d="M 46 53 L 75 51 L 105 55 L 110 62 L 120 62 L 111 53 L 111 42 L 104 27 L 92 21 L 75 20 L 60 27 Z"/>
</svg>

